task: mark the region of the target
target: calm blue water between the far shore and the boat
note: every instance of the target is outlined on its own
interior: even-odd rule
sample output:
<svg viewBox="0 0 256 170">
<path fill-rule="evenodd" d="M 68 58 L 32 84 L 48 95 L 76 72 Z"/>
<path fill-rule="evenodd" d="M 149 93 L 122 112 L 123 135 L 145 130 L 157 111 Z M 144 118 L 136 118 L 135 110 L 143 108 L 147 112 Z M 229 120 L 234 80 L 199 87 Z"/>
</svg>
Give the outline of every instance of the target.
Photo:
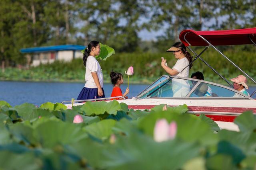
<svg viewBox="0 0 256 170">
<path fill-rule="evenodd" d="M 148 85 L 130 84 L 129 98 L 136 96 Z M 62 102 L 77 98 L 84 83 L 61 83 L 61 82 L 13 82 L 0 81 L 0 100 L 8 102 L 12 106 L 25 102 L 40 106 L 45 102 Z M 126 84 L 121 86 L 125 92 Z M 251 94 L 256 87 L 250 87 L 248 92 Z M 112 84 L 104 84 L 105 96 L 110 97 Z M 256 94 L 253 96 L 256 97 Z"/>
</svg>

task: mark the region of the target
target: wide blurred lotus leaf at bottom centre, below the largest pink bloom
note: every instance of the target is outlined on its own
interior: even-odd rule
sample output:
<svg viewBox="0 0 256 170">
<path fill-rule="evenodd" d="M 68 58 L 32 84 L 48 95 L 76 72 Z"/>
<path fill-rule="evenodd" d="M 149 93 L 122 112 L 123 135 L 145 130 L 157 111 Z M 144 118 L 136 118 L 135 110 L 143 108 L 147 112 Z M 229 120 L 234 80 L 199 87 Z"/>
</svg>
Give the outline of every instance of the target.
<svg viewBox="0 0 256 170">
<path fill-rule="evenodd" d="M 200 153 L 200 147 L 194 143 L 182 141 L 156 143 L 142 133 L 120 137 L 114 145 L 109 143 L 103 145 L 84 139 L 72 144 L 71 147 L 74 153 L 86 159 L 93 169 L 111 170 L 179 169 Z"/>
</svg>

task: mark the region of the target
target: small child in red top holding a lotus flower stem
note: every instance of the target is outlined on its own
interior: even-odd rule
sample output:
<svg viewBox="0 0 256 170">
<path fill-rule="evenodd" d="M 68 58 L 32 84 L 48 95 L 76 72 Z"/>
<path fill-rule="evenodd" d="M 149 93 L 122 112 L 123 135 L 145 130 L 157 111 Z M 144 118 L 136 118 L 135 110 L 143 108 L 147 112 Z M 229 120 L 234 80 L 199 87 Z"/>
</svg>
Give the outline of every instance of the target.
<svg viewBox="0 0 256 170">
<path fill-rule="evenodd" d="M 123 75 L 119 72 L 111 72 L 110 73 L 110 80 L 111 83 L 114 85 L 112 93 L 111 93 L 111 97 L 116 97 L 116 96 L 123 96 L 125 98 L 127 98 L 127 94 L 129 93 L 129 88 L 126 88 L 124 94 L 122 94 L 122 90 L 120 88 L 120 85 L 123 84 L 124 80 L 123 80 Z M 118 98 L 116 98 L 118 99 Z M 122 99 L 122 98 L 119 98 Z M 111 99 L 113 100 L 113 99 Z"/>
</svg>

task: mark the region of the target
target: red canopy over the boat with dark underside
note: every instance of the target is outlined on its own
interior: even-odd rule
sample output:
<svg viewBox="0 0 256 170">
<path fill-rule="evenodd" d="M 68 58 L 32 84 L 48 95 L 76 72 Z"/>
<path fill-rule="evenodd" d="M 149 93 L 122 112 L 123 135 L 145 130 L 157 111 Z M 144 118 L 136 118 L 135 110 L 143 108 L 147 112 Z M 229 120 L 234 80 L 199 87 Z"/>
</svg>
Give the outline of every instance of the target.
<svg viewBox="0 0 256 170">
<path fill-rule="evenodd" d="M 220 30 L 220 31 L 194 31 L 185 29 L 180 33 L 180 41 L 186 46 L 207 46 L 201 37 L 212 45 L 242 45 L 256 42 L 256 27 L 246 29 Z M 252 41 L 250 41 L 250 38 Z"/>
</svg>

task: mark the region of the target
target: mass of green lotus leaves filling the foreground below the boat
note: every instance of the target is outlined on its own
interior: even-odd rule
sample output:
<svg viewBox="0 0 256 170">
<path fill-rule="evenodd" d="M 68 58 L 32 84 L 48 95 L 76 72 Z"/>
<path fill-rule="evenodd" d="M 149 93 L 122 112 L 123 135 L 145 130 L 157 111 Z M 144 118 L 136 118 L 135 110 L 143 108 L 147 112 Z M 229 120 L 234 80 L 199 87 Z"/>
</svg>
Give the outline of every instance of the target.
<svg viewBox="0 0 256 170">
<path fill-rule="evenodd" d="M 0 101 L 0 169 L 256 168 L 256 117 L 251 112 L 235 119 L 240 129 L 235 132 L 187 110 L 186 105 L 159 105 L 135 111 L 115 100 L 69 109 L 60 103 L 12 107 Z M 73 123 L 75 116 L 82 117 L 81 123 Z M 171 139 L 156 140 L 166 131 L 157 129 L 159 120 L 175 123 Z"/>
</svg>

